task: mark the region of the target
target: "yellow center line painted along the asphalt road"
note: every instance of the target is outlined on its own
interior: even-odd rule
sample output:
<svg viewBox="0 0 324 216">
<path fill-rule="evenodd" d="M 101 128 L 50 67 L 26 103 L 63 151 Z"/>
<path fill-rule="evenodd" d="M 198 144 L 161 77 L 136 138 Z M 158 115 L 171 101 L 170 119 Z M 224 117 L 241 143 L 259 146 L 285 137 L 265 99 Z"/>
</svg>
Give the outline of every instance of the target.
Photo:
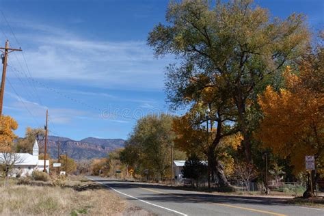
<svg viewBox="0 0 324 216">
<path fill-rule="evenodd" d="M 156 191 L 156 190 L 148 189 L 148 188 L 144 188 L 144 187 L 138 187 L 138 188 L 146 190 L 146 191 L 151 191 L 151 192 L 154 192 L 154 193 L 171 194 L 171 195 L 174 195 L 176 197 L 185 198 L 187 200 L 195 200 L 195 201 L 199 201 L 199 202 L 202 201 L 199 198 L 188 198 L 188 197 L 186 197 L 184 195 L 176 195 L 174 193 L 165 193 L 165 192 L 162 192 L 162 191 Z M 230 208 L 239 208 L 239 209 L 243 209 L 243 210 L 246 210 L 246 211 L 252 211 L 252 212 L 257 212 L 257 213 L 265 213 L 265 214 L 268 214 L 268 215 L 286 216 L 284 214 L 275 213 L 275 212 L 272 212 L 272 211 L 263 211 L 263 210 L 259 210 L 259 209 L 256 209 L 256 208 L 246 208 L 246 207 L 241 207 L 241 206 L 234 206 L 234 205 L 231 205 L 231 204 L 221 204 L 221 203 L 214 203 L 214 202 L 206 202 L 206 203 L 214 204 L 214 205 L 217 205 L 217 206 L 226 206 L 226 207 L 230 207 Z"/>
</svg>

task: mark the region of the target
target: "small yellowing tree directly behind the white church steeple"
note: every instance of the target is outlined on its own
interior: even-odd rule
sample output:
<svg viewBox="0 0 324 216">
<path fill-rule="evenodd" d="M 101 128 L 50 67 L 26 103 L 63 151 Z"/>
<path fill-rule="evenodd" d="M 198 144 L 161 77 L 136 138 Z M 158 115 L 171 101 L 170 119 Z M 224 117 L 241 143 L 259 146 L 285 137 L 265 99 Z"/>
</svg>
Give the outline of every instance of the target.
<svg viewBox="0 0 324 216">
<path fill-rule="evenodd" d="M 16 152 L 31 153 L 33 152 L 33 144 L 35 139 L 40 143 L 45 137 L 45 130 L 42 128 L 32 129 L 27 127 L 25 137 L 18 139 L 16 143 Z"/>
</svg>

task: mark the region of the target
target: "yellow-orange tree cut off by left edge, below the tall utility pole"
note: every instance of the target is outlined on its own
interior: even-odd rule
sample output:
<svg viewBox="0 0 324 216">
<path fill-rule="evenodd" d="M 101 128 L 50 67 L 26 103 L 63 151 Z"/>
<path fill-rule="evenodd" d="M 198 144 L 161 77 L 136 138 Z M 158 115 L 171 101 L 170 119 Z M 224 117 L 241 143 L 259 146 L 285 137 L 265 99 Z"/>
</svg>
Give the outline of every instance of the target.
<svg viewBox="0 0 324 216">
<path fill-rule="evenodd" d="M 17 136 L 14 130 L 18 129 L 18 123 L 10 116 L 2 116 L 0 120 L 0 152 L 10 152 L 12 144 Z"/>
</svg>

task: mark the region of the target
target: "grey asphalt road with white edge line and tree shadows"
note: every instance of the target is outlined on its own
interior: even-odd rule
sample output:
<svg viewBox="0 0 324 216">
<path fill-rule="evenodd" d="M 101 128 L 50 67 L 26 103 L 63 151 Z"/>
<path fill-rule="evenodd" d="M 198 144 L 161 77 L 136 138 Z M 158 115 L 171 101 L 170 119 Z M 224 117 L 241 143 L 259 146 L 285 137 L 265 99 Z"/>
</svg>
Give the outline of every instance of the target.
<svg viewBox="0 0 324 216">
<path fill-rule="evenodd" d="M 323 208 L 288 205 L 278 198 L 212 195 L 97 176 L 88 178 L 157 215 L 324 215 Z"/>
</svg>

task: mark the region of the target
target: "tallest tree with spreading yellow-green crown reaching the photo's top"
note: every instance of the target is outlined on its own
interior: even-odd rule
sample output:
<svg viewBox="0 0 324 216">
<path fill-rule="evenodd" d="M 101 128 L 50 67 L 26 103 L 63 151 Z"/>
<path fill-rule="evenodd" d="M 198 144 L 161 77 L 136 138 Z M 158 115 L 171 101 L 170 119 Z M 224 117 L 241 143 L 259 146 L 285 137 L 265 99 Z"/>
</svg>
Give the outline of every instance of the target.
<svg viewBox="0 0 324 216">
<path fill-rule="evenodd" d="M 193 100 L 187 100 L 187 93 L 193 81 L 207 79 L 195 90 L 212 87 L 217 94 L 208 99 L 228 98 L 225 101 L 230 109 L 222 113 L 232 116 L 231 124 L 239 127 L 242 151 L 251 161 L 256 95 L 303 52 L 309 38 L 304 17 L 291 14 L 284 21 L 272 18 L 251 0 L 215 4 L 184 0 L 169 4 L 166 21 L 167 25 L 159 23 L 150 32 L 148 44 L 155 55 L 172 54 L 178 59 L 178 64 L 167 68 L 165 89 L 170 107 L 191 105 Z M 217 112 L 212 114 L 218 118 Z"/>
</svg>

